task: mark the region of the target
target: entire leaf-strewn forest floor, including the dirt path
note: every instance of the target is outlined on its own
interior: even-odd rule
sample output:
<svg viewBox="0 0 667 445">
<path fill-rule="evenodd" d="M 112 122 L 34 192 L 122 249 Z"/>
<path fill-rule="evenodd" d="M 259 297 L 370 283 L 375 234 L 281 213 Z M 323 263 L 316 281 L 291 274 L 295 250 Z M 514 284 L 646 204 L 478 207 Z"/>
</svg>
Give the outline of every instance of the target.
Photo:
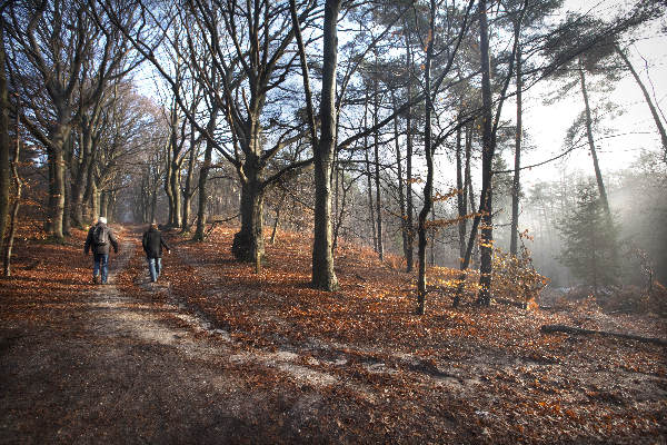
<svg viewBox="0 0 667 445">
<path fill-rule="evenodd" d="M 667 443 L 666 347 L 540 326 L 667 337 L 654 315 L 429 296 L 368 249 L 337 253 L 341 290 L 308 287 L 310 240 L 279 234 L 260 274 L 233 230 L 170 235 L 148 283 L 140 229 L 110 284 L 84 233 L 22 239 L 0 281 L 0 443 Z"/>
</svg>

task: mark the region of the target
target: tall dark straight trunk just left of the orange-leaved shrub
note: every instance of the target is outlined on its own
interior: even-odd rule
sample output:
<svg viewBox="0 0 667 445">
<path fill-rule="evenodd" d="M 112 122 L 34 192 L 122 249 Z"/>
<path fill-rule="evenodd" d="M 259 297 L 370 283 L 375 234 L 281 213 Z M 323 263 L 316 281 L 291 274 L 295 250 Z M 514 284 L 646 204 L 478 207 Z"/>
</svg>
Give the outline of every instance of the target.
<svg viewBox="0 0 667 445">
<path fill-rule="evenodd" d="M 486 194 L 480 206 L 481 238 L 480 238 L 480 265 L 479 265 L 479 295 L 477 300 L 480 305 L 489 306 L 491 303 L 491 273 L 492 273 L 492 194 L 491 194 L 491 161 L 494 158 L 494 140 L 491 129 L 492 97 L 491 97 L 491 72 L 489 60 L 489 31 L 487 22 L 486 0 L 479 0 L 479 50 L 481 58 L 481 100 L 482 100 L 482 154 L 481 154 L 481 188 Z"/>
</svg>

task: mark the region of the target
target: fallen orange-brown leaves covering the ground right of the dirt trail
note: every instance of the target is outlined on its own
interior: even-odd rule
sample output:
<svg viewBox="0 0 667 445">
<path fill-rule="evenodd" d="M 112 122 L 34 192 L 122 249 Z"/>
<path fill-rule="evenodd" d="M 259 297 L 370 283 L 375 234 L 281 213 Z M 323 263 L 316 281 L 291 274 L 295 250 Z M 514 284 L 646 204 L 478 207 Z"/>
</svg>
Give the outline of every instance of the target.
<svg viewBox="0 0 667 445">
<path fill-rule="evenodd" d="M 336 394 L 364 405 L 360 437 L 386 428 L 388 437 L 436 442 L 448 434 L 501 443 L 664 441 L 664 348 L 539 332 L 569 324 L 664 336 L 659 318 L 609 317 L 599 307 L 452 309 L 438 294 L 419 317 L 415 276 L 380 264 L 368 248 L 339 247 L 341 290 L 325 293 L 309 287 L 308 239 L 279 234 L 258 275 L 232 259 L 233 231 L 219 228 L 197 244 L 172 238 L 185 263 L 172 265 L 173 291 L 238 344 L 296 350 L 310 368 L 354 383 Z"/>
</svg>

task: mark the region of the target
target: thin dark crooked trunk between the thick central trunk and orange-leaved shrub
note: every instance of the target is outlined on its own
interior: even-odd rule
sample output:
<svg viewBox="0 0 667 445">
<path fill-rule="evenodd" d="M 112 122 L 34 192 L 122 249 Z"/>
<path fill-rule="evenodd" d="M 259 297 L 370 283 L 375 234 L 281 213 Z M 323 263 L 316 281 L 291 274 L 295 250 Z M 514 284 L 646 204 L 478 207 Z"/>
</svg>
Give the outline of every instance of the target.
<svg viewBox="0 0 667 445">
<path fill-rule="evenodd" d="M 435 36 L 435 14 L 436 2 L 430 2 L 430 34 Z M 426 219 L 431 211 L 432 206 L 432 182 L 434 182 L 434 151 L 431 142 L 431 91 L 430 91 L 430 69 L 434 53 L 432 39 L 429 39 L 426 49 L 426 61 L 424 68 L 424 91 L 426 99 L 426 122 L 424 128 L 424 154 L 426 156 L 426 184 L 424 186 L 424 207 L 419 211 L 418 228 L 417 228 L 417 256 L 419 261 L 419 271 L 417 276 L 417 314 L 424 315 L 426 304 Z"/>
</svg>

